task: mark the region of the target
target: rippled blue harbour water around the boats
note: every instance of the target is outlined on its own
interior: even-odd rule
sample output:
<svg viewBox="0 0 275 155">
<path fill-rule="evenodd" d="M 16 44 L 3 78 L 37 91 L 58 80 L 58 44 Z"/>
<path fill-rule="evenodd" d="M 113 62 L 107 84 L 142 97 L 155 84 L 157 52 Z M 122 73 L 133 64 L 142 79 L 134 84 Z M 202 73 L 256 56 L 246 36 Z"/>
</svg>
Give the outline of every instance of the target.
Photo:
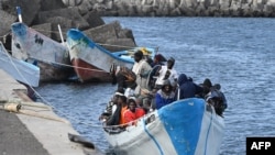
<svg viewBox="0 0 275 155">
<path fill-rule="evenodd" d="M 221 84 L 229 108 L 221 155 L 245 155 L 248 136 L 275 135 L 275 19 L 103 18 L 133 31 L 140 46 L 158 47 L 178 73 Z M 43 84 L 36 91 L 61 117 L 107 152 L 98 115 L 111 84 Z"/>
</svg>

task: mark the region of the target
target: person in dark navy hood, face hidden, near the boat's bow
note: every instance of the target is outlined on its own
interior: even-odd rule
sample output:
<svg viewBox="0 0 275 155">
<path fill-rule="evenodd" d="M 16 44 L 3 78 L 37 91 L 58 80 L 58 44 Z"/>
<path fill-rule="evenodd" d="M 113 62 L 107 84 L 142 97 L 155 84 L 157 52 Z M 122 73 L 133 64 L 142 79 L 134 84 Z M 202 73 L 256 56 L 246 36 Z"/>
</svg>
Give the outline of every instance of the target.
<svg viewBox="0 0 275 155">
<path fill-rule="evenodd" d="M 194 98 L 196 95 L 201 93 L 204 88 L 190 80 L 185 74 L 178 76 L 178 90 L 177 98 L 179 99 Z"/>
</svg>

